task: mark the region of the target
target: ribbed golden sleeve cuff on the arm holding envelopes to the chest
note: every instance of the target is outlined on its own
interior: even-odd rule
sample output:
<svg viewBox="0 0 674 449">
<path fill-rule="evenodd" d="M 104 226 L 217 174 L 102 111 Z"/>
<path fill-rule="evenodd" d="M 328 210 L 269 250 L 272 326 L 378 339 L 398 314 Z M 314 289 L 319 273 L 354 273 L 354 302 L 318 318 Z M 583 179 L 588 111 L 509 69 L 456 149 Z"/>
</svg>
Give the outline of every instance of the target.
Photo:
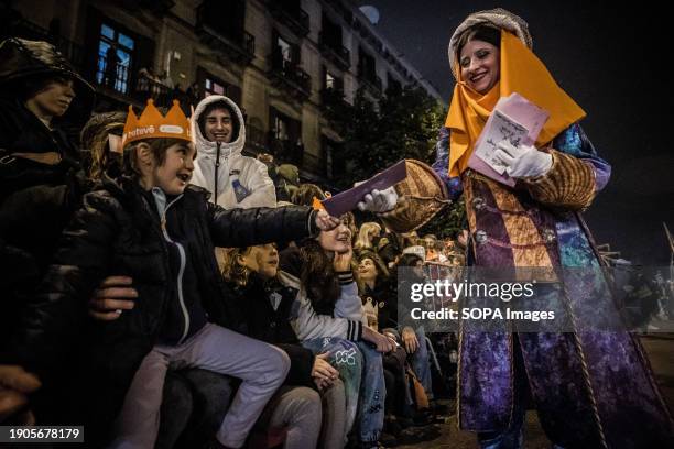
<svg viewBox="0 0 674 449">
<path fill-rule="evenodd" d="M 535 178 L 522 179 L 531 196 L 540 202 L 565 209 L 587 208 L 595 197 L 595 171 L 585 162 L 552 150 L 553 165 Z"/>
</svg>

